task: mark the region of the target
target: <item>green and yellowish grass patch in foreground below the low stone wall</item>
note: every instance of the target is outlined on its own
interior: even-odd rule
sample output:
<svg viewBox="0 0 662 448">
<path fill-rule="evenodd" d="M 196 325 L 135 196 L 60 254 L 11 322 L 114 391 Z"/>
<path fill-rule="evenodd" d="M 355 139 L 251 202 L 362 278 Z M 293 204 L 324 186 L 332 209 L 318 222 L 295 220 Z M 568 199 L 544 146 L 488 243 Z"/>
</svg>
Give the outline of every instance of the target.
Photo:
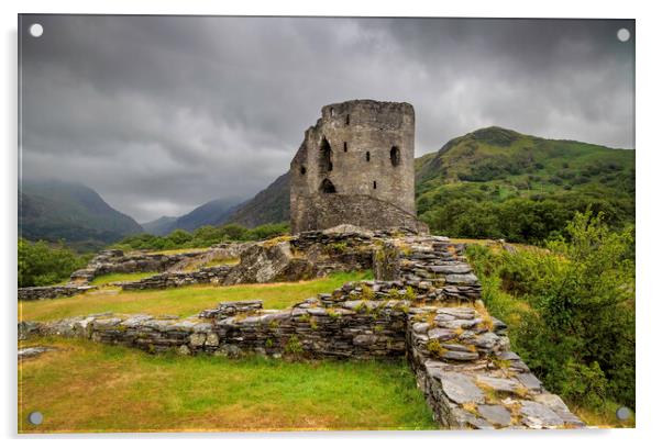
<svg viewBox="0 0 662 448">
<path fill-rule="evenodd" d="M 20 365 L 21 433 L 437 428 L 404 360 L 230 360 L 35 344 L 58 350 Z M 42 425 L 26 422 L 33 411 Z"/>
</svg>

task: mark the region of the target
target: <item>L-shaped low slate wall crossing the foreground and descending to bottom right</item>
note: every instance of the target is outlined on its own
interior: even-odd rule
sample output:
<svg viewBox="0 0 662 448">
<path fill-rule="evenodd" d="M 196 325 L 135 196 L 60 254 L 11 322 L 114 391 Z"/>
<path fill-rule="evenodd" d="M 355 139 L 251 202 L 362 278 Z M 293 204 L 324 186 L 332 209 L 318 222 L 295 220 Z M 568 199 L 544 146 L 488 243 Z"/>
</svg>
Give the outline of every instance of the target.
<svg viewBox="0 0 662 448">
<path fill-rule="evenodd" d="M 442 427 L 583 426 L 510 351 L 506 326 L 477 300 L 479 284 L 462 245 L 404 236 L 377 246 L 375 272 L 396 279 L 347 283 L 288 310 L 263 310 L 260 301 L 221 303 L 185 320 L 108 314 L 22 323 L 20 333 L 183 355 L 406 356 Z"/>
</svg>

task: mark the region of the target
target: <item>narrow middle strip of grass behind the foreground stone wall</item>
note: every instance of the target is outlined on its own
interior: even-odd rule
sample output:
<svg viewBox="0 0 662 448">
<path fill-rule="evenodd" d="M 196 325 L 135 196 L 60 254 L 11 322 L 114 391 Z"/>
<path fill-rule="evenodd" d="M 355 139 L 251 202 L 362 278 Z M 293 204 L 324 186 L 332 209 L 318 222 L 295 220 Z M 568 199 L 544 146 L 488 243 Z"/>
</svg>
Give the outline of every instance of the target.
<svg viewBox="0 0 662 448">
<path fill-rule="evenodd" d="M 264 300 L 265 309 L 285 309 L 320 292 L 331 292 L 347 281 L 372 278 L 372 272 L 339 272 L 293 283 L 196 285 L 154 291 L 101 290 L 66 299 L 19 303 L 20 321 L 51 321 L 95 313 L 145 313 L 190 316 L 219 302 Z"/>
</svg>

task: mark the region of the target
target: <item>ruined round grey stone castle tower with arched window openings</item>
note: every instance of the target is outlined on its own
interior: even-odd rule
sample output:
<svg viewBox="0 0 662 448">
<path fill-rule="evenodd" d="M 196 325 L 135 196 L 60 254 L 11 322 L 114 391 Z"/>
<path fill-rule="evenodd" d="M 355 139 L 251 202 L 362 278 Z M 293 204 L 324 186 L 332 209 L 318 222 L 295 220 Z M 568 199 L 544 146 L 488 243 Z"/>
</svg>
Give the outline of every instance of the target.
<svg viewBox="0 0 662 448">
<path fill-rule="evenodd" d="M 323 107 L 290 164 L 293 233 L 339 224 L 427 232 L 413 201 L 413 124 L 408 103 Z"/>
</svg>

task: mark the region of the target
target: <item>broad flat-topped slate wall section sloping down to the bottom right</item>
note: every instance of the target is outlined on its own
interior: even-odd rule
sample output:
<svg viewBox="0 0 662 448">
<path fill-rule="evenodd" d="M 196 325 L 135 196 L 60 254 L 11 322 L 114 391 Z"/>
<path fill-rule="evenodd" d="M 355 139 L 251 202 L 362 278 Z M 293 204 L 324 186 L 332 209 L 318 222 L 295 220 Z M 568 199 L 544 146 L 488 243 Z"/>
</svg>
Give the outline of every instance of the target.
<svg viewBox="0 0 662 448">
<path fill-rule="evenodd" d="M 501 322 L 474 307 L 428 307 L 416 310 L 408 325 L 408 359 L 442 426 L 584 426 L 509 350 Z"/>
</svg>

